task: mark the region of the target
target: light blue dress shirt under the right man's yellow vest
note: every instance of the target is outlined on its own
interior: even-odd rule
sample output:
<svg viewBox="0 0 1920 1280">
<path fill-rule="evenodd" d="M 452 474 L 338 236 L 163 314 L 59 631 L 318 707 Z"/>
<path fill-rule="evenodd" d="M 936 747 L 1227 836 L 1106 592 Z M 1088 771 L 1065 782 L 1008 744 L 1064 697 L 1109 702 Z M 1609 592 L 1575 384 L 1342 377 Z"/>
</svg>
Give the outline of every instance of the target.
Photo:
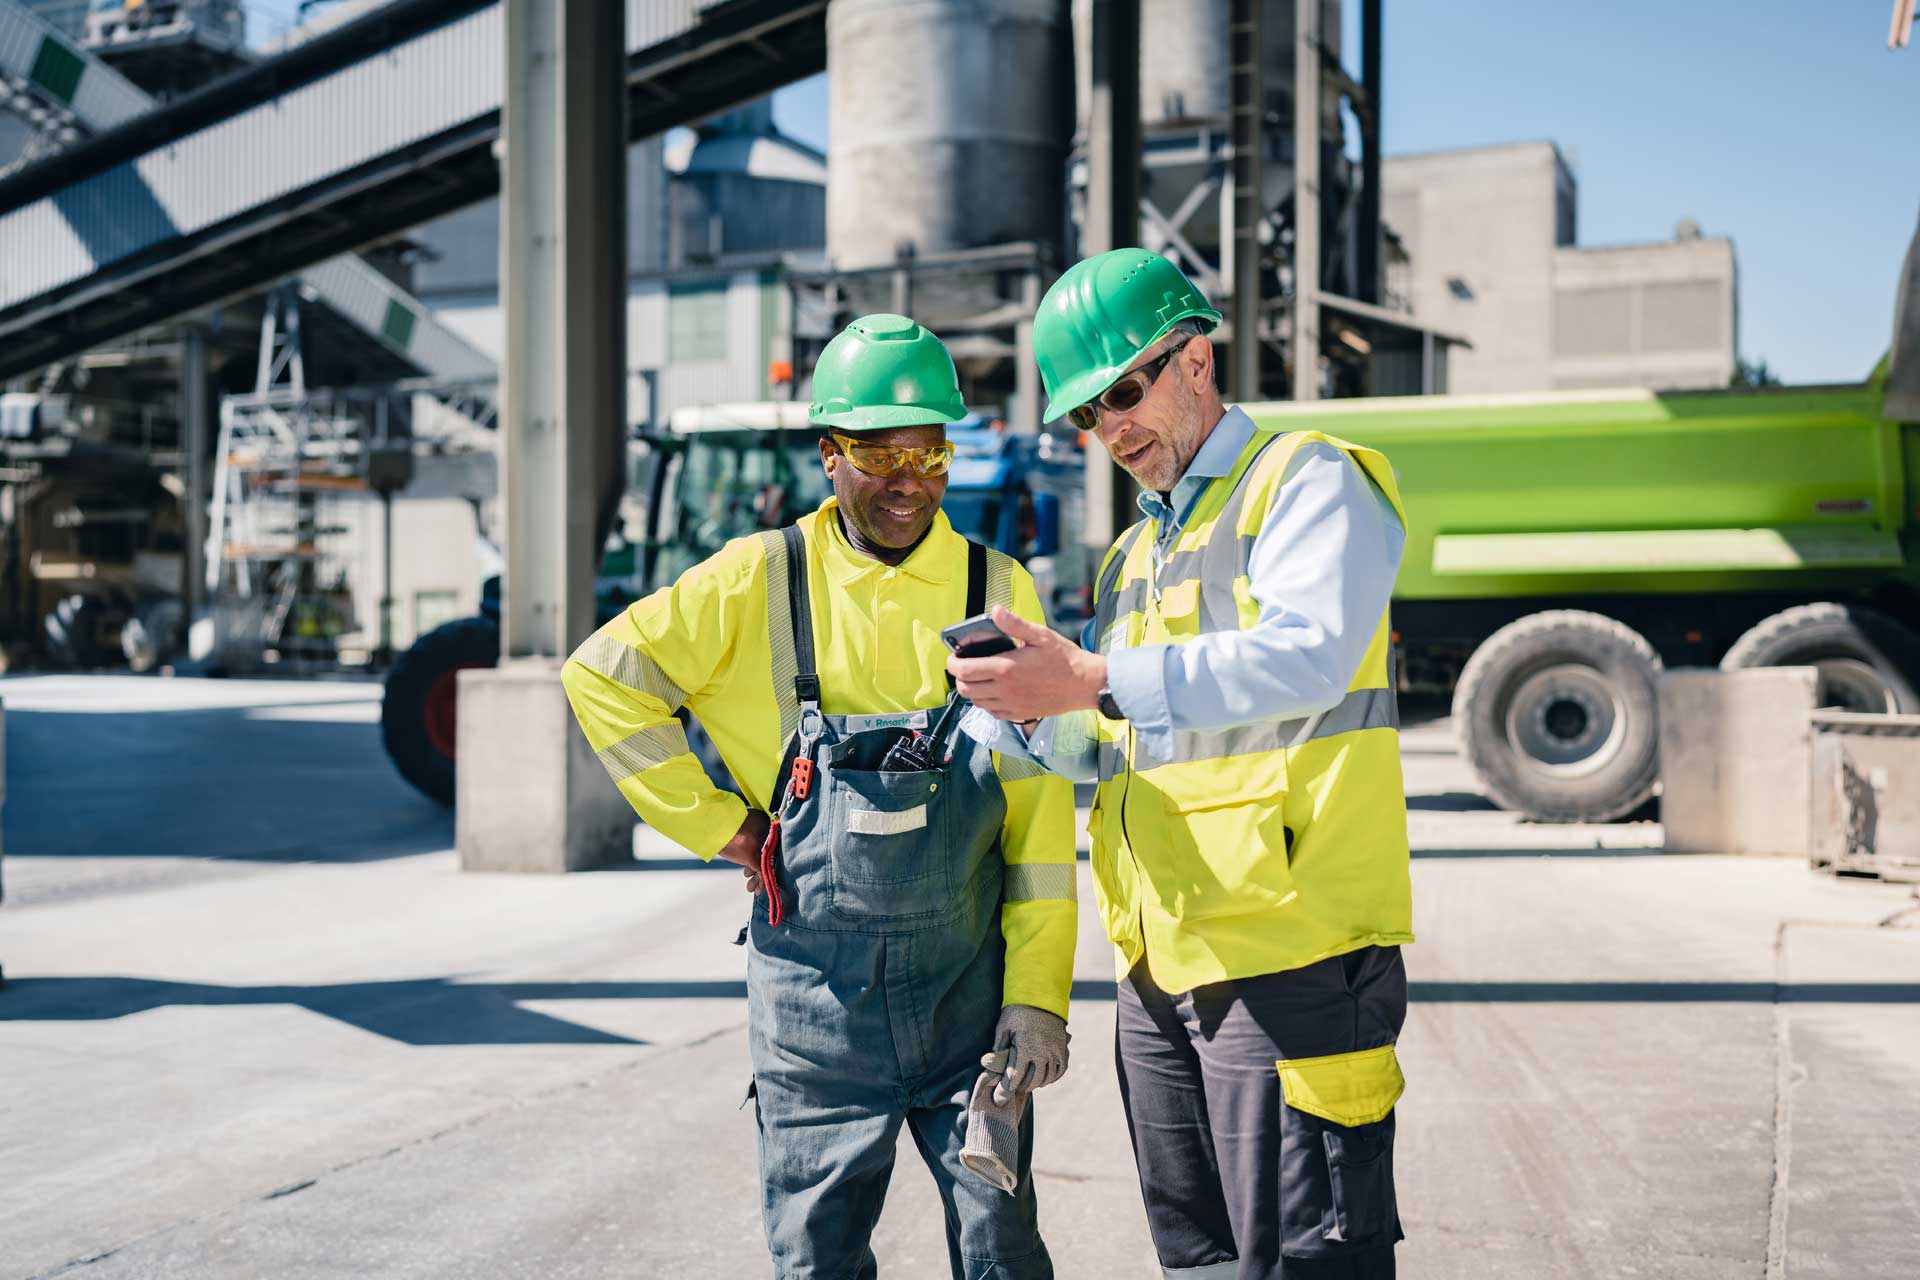
<svg viewBox="0 0 1920 1280">
<path fill-rule="evenodd" d="M 1254 438 L 1254 420 L 1229 409 L 1187 474 L 1167 495 L 1142 493 L 1154 520 L 1154 572 L 1179 539 L 1208 482 L 1231 474 Z M 1260 618 L 1244 631 L 1215 631 L 1179 645 L 1108 654 L 1108 687 L 1152 760 L 1173 756 L 1177 729 L 1225 729 L 1296 720 L 1346 697 L 1400 572 L 1405 528 L 1394 505 L 1346 453 L 1308 443 L 1294 451 L 1273 505 L 1254 535 L 1248 583 Z M 1092 624 L 1081 645 L 1092 649 Z M 1031 741 L 1018 725 L 972 708 L 962 729 L 1054 773 L 1092 781 L 1094 714 L 1050 716 Z"/>
</svg>

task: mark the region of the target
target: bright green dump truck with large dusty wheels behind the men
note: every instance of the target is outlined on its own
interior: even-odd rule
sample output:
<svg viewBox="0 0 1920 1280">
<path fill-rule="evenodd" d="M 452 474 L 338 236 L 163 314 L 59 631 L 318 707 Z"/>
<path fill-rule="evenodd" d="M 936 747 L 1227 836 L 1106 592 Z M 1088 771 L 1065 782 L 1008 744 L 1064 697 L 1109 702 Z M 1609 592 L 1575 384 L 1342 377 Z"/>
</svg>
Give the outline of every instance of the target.
<svg viewBox="0 0 1920 1280">
<path fill-rule="evenodd" d="M 1920 238 L 1860 386 L 1250 405 L 1386 453 L 1409 537 L 1404 689 L 1453 691 L 1486 793 L 1640 812 L 1663 666 L 1816 666 L 1824 702 L 1920 712 Z M 1920 779 L 1916 779 L 1920 785 Z"/>
</svg>

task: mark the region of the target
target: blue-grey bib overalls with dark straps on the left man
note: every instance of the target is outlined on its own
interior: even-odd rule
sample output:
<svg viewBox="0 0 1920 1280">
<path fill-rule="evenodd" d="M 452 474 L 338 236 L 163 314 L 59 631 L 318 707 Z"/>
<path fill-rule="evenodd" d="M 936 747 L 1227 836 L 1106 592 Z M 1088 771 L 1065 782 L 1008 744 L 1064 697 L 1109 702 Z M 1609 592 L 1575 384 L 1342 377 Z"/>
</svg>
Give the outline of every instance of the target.
<svg viewBox="0 0 1920 1280">
<path fill-rule="evenodd" d="M 993 754 L 954 727 L 950 754 L 931 768 L 881 770 L 908 731 L 900 722 L 927 727 L 937 708 L 820 712 L 806 549 L 797 528 L 783 535 L 801 718 L 776 781 L 776 794 L 785 793 L 774 814 L 778 854 L 762 864 L 772 879 L 747 929 L 762 1211 L 776 1276 L 876 1274 L 868 1238 L 902 1123 L 947 1209 L 952 1274 L 1052 1276 L 1035 1221 L 1033 1107 L 1016 1196 L 960 1165 L 968 1094 L 993 1048 L 1006 961 L 1006 802 Z M 968 616 L 981 612 L 985 591 L 985 553 L 970 551 Z M 810 762 L 806 794 L 789 785 L 793 762 Z"/>
</svg>

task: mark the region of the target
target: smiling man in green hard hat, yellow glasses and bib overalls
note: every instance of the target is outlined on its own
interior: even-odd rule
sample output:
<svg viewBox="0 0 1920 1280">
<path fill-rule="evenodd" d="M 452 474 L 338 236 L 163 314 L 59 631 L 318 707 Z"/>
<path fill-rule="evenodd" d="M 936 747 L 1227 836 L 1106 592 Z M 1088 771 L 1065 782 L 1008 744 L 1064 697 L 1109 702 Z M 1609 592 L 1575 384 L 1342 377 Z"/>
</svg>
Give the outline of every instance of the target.
<svg viewBox="0 0 1920 1280">
<path fill-rule="evenodd" d="M 1073 789 L 954 731 L 941 629 L 989 606 L 1044 626 L 1027 572 L 939 510 L 964 413 L 939 338 L 854 320 L 814 368 L 833 497 L 637 601 L 563 674 L 639 816 L 755 892 L 749 1094 L 780 1276 L 876 1274 L 902 1125 L 952 1274 L 1052 1274 L 1025 1100 L 1068 1065 Z"/>
</svg>

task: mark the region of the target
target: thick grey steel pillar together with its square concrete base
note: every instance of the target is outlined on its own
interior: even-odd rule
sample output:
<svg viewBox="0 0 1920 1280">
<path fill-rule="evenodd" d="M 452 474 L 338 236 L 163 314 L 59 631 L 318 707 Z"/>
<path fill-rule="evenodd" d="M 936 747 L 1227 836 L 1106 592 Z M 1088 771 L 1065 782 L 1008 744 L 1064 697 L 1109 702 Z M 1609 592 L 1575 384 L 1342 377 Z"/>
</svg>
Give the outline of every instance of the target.
<svg viewBox="0 0 1920 1280">
<path fill-rule="evenodd" d="M 630 858 L 634 829 L 561 687 L 626 441 L 626 6 L 503 17 L 503 662 L 459 676 L 453 839 L 465 869 L 574 871 Z"/>
</svg>

